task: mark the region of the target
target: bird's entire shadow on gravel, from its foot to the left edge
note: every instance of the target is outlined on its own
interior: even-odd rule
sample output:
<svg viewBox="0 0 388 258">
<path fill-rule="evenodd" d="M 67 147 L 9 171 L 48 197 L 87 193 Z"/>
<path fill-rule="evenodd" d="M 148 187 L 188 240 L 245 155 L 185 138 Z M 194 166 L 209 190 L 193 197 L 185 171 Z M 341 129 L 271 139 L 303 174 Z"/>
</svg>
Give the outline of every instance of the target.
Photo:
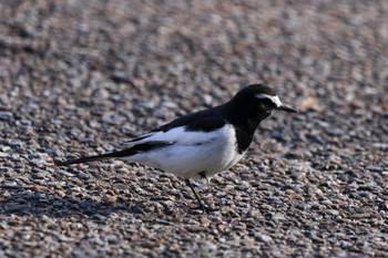
<svg viewBox="0 0 388 258">
<path fill-rule="evenodd" d="M 181 188 L 180 188 L 181 189 Z M 51 218 L 67 218 L 73 215 L 82 215 L 95 223 L 103 223 L 111 214 L 125 213 L 127 216 L 134 218 L 146 217 L 150 220 L 163 218 L 165 220 L 175 220 L 180 214 L 198 215 L 202 210 L 195 208 L 196 203 L 190 196 L 188 189 L 183 192 L 180 196 L 175 196 L 177 202 L 171 206 L 170 198 L 163 196 L 154 196 L 152 193 L 143 198 L 132 197 L 132 194 L 119 198 L 115 202 L 96 195 L 83 194 L 64 194 L 57 192 L 47 192 L 41 189 L 29 189 L 22 187 L 3 187 L 0 186 L 0 193 L 7 193 L 0 199 L 0 216 L 17 215 L 21 217 L 31 216 L 40 217 L 48 216 Z M 187 194 L 188 193 L 188 194 Z M 187 204 L 193 202 L 193 205 Z M 159 203 L 160 209 L 153 209 Z M 169 204 L 167 204 L 169 203 Z M 193 207 L 191 207 L 193 206 Z"/>
</svg>

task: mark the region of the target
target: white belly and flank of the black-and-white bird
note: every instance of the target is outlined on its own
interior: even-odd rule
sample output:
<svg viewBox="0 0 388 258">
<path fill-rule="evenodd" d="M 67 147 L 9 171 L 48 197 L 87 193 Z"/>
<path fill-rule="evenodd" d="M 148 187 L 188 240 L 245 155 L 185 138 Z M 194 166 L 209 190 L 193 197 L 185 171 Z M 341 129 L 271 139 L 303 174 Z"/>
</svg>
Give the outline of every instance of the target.
<svg viewBox="0 0 388 258">
<path fill-rule="evenodd" d="M 198 173 L 204 172 L 206 177 L 211 177 L 232 167 L 245 154 L 237 153 L 232 125 L 210 133 L 185 132 L 181 136 L 185 138 L 124 159 L 160 168 L 183 178 L 201 178 Z"/>
</svg>

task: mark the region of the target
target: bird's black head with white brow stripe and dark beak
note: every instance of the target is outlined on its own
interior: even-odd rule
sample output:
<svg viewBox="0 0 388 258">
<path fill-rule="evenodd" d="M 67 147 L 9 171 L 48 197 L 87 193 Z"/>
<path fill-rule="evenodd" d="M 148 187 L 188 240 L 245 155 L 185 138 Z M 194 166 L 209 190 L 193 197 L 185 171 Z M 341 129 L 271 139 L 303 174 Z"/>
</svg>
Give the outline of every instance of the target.
<svg viewBox="0 0 388 258">
<path fill-rule="evenodd" d="M 246 115 L 257 116 L 261 120 L 269 116 L 273 111 L 297 113 L 293 107 L 283 104 L 273 89 L 263 84 L 251 84 L 242 89 L 231 103 L 235 107 L 241 107 Z"/>
</svg>

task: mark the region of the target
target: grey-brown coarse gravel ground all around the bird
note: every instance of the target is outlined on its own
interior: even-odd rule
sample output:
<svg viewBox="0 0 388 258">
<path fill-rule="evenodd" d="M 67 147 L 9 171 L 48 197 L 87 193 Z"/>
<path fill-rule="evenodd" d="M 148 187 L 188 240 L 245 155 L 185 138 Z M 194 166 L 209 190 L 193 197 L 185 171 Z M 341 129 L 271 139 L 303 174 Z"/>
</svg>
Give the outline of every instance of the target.
<svg viewBox="0 0 388 258">
<path fill-rule="evenodd" d="M 146 3 L 145 3 L 146 2 Z M 388 1 L 0 0 L 0 257 L 388 257 Z M 198 190 L 113 149 L 248 83 L 261 124 Z"/>
</svg>

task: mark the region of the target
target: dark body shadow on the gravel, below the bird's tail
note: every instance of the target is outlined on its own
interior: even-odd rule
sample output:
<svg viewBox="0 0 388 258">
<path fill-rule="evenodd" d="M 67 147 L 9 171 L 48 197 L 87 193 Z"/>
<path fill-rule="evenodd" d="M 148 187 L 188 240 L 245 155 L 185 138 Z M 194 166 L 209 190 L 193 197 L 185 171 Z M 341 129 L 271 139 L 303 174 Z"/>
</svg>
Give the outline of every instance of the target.
<svg viewBox="0 0 388 258">
<path fill-rule="evenodd" d="M 0 190 L 4 188 L 0 187 Z M 74 196 L 59 196 L 39 190 L 27 192 L 20 188 L 7 188 L 8 196 L 0 199 L 2 215 L 45 215 L 49 217 L 68 217 L 74 214 L 86 215 L 92 219 L 101 220 L 104 216 L 118 211 L 142 214 L 141 203 L 98 202 L 91 198 Z"/>
</svg>

